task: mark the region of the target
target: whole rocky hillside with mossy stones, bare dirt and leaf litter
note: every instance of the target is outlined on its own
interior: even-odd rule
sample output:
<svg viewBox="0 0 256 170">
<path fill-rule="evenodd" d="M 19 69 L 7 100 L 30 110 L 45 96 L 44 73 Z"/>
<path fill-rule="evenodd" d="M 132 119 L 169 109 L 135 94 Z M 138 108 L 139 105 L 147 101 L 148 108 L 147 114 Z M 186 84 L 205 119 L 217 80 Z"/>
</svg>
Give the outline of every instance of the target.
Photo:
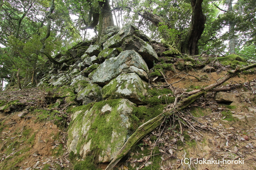
<svg viewBox="0 0 256 170">
<path fill-rule="evenodd" d="M 0 93 L 1 170 L 105 169 L 140 125 L 252 64 L 234 54 L 181 54 L 131 23 L 55 59 L 65 62 L 46 63 L 36 87 Z M 216 88 L 166 114 L 114 169 L 254 169 L 256 70 Z M 243 163 L 196 164 L 203 159 Z"/>
</svg>

